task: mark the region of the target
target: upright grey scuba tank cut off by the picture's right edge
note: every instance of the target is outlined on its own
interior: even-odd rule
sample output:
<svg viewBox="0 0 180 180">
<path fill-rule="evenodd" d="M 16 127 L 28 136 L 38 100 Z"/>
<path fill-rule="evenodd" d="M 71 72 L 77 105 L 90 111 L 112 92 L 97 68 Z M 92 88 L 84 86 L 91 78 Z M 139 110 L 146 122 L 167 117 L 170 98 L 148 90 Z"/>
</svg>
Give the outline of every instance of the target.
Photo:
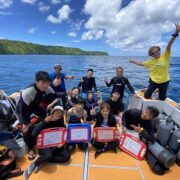
<svg viewBox="0 0 180 180">
<path fill-rule="evenodd" d="M 168 146 L 177 152 L 180 149 L 180 129 L 176 129 L 171 133 Z"/>
</svg>

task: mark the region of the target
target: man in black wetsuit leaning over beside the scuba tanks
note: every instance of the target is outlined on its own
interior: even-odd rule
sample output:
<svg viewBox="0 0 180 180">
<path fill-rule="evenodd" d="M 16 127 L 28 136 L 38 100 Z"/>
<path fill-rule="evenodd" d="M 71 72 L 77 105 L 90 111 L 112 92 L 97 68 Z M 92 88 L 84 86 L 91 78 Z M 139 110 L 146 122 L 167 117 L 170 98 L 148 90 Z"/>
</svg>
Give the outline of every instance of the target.
<svg viewBox="0 0 180 180">
<path fill-rule="evenodd" d="M 141 141 L 145 143 L 155 142 L 153 119 L 159 115 L 159 110 L 155 106 L 148 106 L 144 110 L 128 109 L 123 113 L 123 132 L 127 129 L 135 130 L 139 133 Z M 146 160 L 154 173 L 163 175 L 166 168 L 147 149 Z"/>
</svg>

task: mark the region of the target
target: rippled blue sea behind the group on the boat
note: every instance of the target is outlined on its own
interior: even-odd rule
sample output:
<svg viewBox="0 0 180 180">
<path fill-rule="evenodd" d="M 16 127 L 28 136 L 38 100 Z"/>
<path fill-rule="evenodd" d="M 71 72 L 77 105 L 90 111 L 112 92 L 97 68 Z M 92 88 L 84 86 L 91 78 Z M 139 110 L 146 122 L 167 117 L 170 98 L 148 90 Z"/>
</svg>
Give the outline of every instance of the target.
<svg viewBox="0 0 180 180">
<path fill-rule="evenodd" d="M 115 75 L 115 68 L 124 68 L 124 76 L 136 90 L 148 86 L 149 72 L 128 62 L 129 59 L 146 60 L 148 57 L 118 56 L 64 56 L 64 55 L 0 55 L 0 89 L 7 94 L 19 91 L 34 82 L 34 74 L 39 70 L 53 72 L 53 64 L 61 64 L 63 72 L 75 76 L 66 80 L 67 89 L 77 86 L 88 68 L 94 69 L 98 89 L 103 97 L 110 95 L 111 88 L 105 86 L 104 78 L 110 80 Z M 168 97 L 180 102 L 180 57 L 172 57 L 170 65 L 171 82 Z M 126 89 L 124 102 L 130 97 Z"/>
</svg>

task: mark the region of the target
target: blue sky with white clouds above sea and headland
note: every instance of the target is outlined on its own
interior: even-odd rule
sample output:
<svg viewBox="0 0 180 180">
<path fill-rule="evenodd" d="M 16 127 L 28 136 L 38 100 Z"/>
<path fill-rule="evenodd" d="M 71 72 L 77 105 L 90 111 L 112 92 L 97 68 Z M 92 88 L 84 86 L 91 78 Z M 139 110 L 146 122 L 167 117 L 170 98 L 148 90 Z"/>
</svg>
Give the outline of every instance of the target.
<svg viewBox="0 0 180 180">
<path fill-rule="evenodd" d="M 180 0 L 0 0 L 0 39 L 146 56 L 165 49 Z M 172 48 L 180 56 L 180 38 Z"/>
</svg>

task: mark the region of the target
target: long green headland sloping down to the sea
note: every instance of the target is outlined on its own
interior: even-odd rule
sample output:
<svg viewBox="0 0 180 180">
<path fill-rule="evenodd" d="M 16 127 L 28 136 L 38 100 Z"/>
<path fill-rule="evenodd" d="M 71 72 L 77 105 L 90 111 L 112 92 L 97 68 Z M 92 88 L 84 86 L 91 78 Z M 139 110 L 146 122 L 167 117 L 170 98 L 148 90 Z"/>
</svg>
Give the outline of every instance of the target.
<svg viewBox="0 0 180 180">
<path fill-rule="evenodd" d="M 64 46 L 40 45 L 24 41 L 0 39 L 0 55 L 92 55 L 108 56 L 107 52 L 85 51 Z"/>
</svg>

